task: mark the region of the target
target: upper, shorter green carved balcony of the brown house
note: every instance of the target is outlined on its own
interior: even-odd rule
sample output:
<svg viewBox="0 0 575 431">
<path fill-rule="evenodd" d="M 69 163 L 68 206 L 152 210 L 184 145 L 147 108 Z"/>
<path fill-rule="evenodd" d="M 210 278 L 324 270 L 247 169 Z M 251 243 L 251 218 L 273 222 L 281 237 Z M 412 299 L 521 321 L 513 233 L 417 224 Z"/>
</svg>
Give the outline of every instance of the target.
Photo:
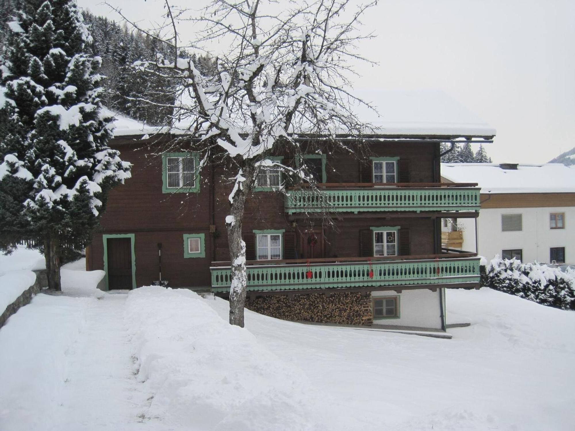
<svg viewBox="0 0 575 431">
<path fill-rule="evenodd" d="M 479 211 L 477 183 L 325 183 L 319 191 L 290 188 L 285 210 L 294 213 Z"/>
</svg>

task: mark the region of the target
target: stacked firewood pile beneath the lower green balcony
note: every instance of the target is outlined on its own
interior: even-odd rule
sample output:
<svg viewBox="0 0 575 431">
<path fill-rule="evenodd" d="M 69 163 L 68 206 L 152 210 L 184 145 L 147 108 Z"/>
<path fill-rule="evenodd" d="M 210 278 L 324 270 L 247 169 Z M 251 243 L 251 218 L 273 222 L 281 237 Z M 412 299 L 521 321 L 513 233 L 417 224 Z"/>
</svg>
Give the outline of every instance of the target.
<svg viewBox="0 0 575 431">
<path fill-rule="evenodd" d="M 246 308 L 283 320 L 371 325 L 371 293 L 262 295 L 246 298 Z"/>
</svg>

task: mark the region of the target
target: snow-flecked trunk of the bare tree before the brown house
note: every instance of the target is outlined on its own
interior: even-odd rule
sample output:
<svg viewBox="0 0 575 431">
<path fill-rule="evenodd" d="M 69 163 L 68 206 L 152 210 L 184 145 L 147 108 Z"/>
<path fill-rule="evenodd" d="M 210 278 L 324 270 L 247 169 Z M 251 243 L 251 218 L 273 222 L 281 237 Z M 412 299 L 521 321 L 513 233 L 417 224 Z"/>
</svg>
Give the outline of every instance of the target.
<svg viewBox="0 0 575 431">
<path fill-rule="evenodd" d="M 229 324 L 244 327 L 244 305 L 246 303 L 246 244 L 241 239 L 241 225 L 244 219 L 244 207 L 251 190 L 253 171 L 251 167 L 243 169 L 243 190 L 236 191 L 231 205 L 233 222 L 227 223 L 229 259 L 232 264 L 232 283 L 229 288 Z"/>
</svg>

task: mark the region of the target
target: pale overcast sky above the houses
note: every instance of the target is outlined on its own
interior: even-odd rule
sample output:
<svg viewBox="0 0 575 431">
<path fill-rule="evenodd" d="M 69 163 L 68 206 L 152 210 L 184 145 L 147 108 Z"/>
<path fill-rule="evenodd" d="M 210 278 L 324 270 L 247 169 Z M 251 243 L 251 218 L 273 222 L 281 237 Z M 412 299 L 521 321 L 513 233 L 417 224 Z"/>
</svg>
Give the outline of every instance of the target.
<svg viewBox="0 0 575 431">
<path fill-rule="evenodd" d="M 108 0 L 141 25 L 160 0 Z M 178 4 L 178 0 L 173 0 Z M 203 1 L 179 4 L 196 5 Z M 78 0 L 119 20 L 98 0 Z M 575 147 L 575 0 L 380 0 L 357 88 L 438 89 L 494 128 L 493 161 L 544 163 Z"/>
</svg>

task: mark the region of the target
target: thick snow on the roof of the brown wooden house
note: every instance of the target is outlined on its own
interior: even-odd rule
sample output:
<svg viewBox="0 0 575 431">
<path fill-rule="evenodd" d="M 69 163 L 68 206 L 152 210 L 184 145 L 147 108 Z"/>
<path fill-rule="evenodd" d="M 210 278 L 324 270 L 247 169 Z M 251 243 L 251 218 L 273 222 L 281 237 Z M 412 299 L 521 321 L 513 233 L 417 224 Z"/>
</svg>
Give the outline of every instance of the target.
<svg viewBox="0 0 575 431">
<path fill-rule="evenodd" d="M 355 107 L 359 120 L 375 126 L 375 132 L 382 136 L 489 138 L 496 134 L 494 128 L 442 91 L 357 90 L 353 94 L 377 109 L 376 113 L 364 105 Z M 121 114 L 116 118 L 116 136 L 160 132 Z M 178 129 L 183 133 L 186 125 L 179 124 Z"/>
</svg>

